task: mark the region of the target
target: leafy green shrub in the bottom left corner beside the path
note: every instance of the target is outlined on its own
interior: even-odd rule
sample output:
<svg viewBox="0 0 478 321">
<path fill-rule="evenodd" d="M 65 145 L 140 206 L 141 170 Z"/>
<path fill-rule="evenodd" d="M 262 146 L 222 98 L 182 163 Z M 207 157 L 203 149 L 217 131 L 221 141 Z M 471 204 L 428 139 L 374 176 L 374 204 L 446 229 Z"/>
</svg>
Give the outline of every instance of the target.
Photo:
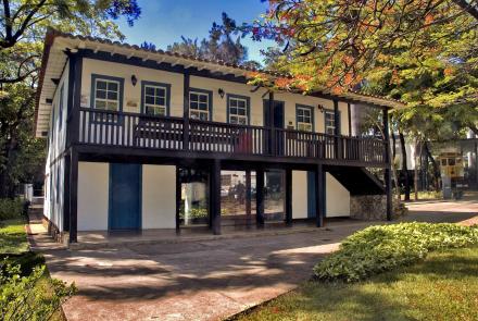
<svg viewBox="0 0 478 321">
<path fill-rule="evenodd" d="M 20 266 L 0 263 L 0 319 L 49 320 L 76 287 L 51 279 L 46 287 L 46 276 L 45 266 L 35 268 L 28 276 L 22 276 Z"/>
</svg>

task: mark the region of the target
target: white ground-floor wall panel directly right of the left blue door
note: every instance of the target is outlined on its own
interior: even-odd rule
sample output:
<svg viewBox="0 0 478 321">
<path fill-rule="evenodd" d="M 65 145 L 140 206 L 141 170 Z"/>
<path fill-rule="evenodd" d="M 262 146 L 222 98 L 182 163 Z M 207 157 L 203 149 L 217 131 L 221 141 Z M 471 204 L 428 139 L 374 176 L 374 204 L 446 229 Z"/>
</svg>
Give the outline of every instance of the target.
<svg viewBox="0 0 478 321">
<path fill-rule="evenodd" d="M 142 229 L 176 227 L 176 166 L 142 165 Z"/>
</svg>

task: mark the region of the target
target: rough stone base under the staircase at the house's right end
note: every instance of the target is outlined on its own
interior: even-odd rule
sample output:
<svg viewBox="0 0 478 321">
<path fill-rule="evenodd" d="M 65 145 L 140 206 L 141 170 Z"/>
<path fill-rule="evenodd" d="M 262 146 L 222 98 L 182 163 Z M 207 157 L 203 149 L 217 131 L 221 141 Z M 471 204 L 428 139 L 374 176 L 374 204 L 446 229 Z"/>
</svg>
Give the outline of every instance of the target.
<svg viewBox="0 0 478 321">
<path fill-rule="evenodd" d="M 392 219 L 404 214 L 406 208 L 393 199 Z M 387 197 L 385 195 L 350 196 L 350 217 L 365 221 L 387 220 Z"/>
</svg>

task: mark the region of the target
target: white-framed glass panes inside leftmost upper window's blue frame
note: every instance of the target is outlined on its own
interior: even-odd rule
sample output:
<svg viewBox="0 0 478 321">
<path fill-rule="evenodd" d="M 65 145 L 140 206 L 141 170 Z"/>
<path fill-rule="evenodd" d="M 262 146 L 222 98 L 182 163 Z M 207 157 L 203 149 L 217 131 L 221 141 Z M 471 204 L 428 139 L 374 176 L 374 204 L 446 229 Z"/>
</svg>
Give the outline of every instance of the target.
<svg viewBox="0 0 478 321">
<path fill-rule="evenodd" d="M 96 78 L 93 108 L 120 111 L 120 82 Z"/>
</svg>

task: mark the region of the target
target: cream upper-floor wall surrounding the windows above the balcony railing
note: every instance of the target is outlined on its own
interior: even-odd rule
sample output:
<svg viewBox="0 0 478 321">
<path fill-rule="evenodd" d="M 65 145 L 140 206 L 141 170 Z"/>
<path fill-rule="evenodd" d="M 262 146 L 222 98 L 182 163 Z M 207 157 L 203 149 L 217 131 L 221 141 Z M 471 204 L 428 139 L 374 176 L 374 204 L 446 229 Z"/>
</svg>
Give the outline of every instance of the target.
<svg viewBox="0 0 478 321">
<path fill-rule="evenodd" d="M 184 75 L 179 73 L 164 72 L 147 67 L 131 66 L 115 62 L 99 61 L 93 59 L 85 59 L 83 62 L 83 79 L 81 79 L 81 107 L 90 107 L 91 95 L 91 74 L 100 74 L 104 76 L 113 76 L 124 78 L 124 101 L 123 110 L 128 112 L 139 112 L 141 104 L 141 82 L 156 82 L 171 85 L 171 115 L 183 116 L 184 110 Z M 138 79 L 136 86 L 131 84 L 131 75 Z M 213 121 L 227 122 L 227 94 L 247 96 L 251 102 L 251 125 L 263 125 L 263 100 L 265 88 L 261 88 L 254 92 L 254 86 L 226 82 L 206 77 L 191 76 L 191 88 L 211 90 L 213 92 Z M 224 98 L 221 98 L 218 89 L 225 91 Z M 265 96 L 267 98 L 267 96 Z M 326 109 L 334 109 L 334 101 L 317 97 L 303 96 L 291 92 L 275 92 L 275 99 L 285 101 L 285 126 L 289 123 L 295 128 L 295 104 L 305 104 L 314 108 L 315 131 L 324 132 L 324 113 L 318 109 L 318 104 Z M 339 102 L 341 111 L 341 133 L 349 133 L 348 109 L 347 103 Z"/>
</svg>

